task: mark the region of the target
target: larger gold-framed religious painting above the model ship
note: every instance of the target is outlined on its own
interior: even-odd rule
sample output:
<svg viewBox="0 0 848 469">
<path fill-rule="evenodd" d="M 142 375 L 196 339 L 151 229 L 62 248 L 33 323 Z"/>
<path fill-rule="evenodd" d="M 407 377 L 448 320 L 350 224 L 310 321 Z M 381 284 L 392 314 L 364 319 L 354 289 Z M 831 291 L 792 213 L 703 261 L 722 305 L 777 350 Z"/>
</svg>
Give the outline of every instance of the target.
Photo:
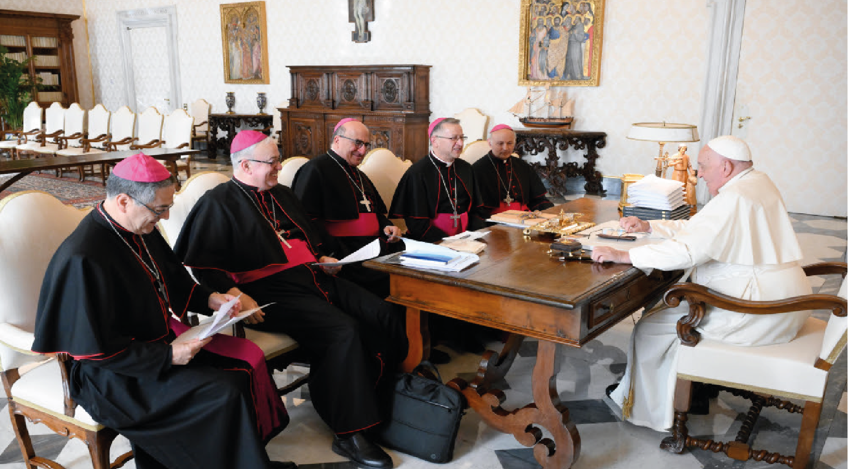
<svg viewBox="0 0 848 469">
<path fill-rule="evenodd" d="M 605 0 L 522 0 L 518 85 L 597 87 Z"/>
</svg>

